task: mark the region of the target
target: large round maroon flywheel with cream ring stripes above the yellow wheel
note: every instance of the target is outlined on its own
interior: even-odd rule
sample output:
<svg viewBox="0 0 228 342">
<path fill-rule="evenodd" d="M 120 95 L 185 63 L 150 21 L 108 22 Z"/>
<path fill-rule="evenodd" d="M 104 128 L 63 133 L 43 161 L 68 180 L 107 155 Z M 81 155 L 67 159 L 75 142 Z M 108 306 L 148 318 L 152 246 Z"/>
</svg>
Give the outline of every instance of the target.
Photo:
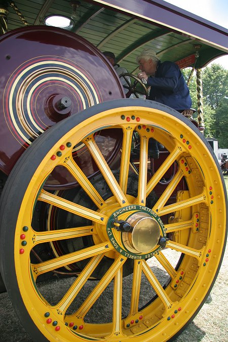
<svg viewBox="0 0 228 342">
<path fill-rule="evenodd" d="M 0 169 L 6 174 L 26 147 L 56 122 L 93 104 L 125 97 L 102 53 L 74 33 L 46 26 L 20 28 L 0 37 L 0 50 Z M 67 106 L 58 108 L 57 102 L 65 98 Z"/>
</svg>

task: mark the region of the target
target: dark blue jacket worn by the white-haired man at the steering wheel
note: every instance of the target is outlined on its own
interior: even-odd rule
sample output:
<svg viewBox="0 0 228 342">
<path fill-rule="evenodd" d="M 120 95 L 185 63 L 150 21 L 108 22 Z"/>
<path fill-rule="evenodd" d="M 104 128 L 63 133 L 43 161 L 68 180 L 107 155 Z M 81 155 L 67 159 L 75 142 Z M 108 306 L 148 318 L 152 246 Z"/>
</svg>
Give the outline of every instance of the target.
<svg viewBox="0 0 228 342">
<path fill-rule="evenodd" d="M 158 62 L 155 77 L 149 77 L 149 99 L 157 101 L 178 111 L 189 109 L 192 100 L 183 75 L 177 64 L 173 62 Z"/>
</svg>

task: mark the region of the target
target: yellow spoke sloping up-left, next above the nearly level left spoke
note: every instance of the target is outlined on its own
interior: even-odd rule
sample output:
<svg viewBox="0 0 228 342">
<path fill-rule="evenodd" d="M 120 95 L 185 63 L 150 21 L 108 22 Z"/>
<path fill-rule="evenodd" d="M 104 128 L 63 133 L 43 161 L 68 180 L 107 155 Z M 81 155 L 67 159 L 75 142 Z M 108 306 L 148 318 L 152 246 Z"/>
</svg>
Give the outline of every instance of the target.
<svg viewBox="0 0 228 342">
<path fill-rule="evenodd" d="M 73 202 L 67 201 L 64 198 L 58 197 L 56 195 L 50 194 L 45 190 L 42 190 L 39 198 L 40 201 L 52 204 L 58 208 L 67 210 L 73 214 L 77 214 L 82 217 L 89 218 L 95 222 L 105 224 L 107 221 L 107 216 L 99 215 L 96 211 L 82 207 L 81 205 L 75 204 Z"/>
</svg>

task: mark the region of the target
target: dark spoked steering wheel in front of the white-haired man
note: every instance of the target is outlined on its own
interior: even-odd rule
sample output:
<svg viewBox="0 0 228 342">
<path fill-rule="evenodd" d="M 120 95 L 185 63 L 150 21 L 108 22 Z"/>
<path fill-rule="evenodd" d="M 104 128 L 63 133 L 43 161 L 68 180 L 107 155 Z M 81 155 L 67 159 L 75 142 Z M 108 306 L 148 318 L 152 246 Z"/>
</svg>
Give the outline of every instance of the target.
<svg viewBox="0 0 228 342">
<path fill-rule="evenodd" d="M 139 94 L 140 94 L 140 95 L 145 95 L 145 98 L 148 99 L 147 88 L 138 77 L 128 72 L 121 73 L 119 77 L 120 78 L 123 77 L 126 83 L 128 84 L 128 86 L 123 85 L 124 88 L 128 89 L 126 97 L 130 97 L 131 94 L 134 94 L 135 97 L 139 98 Z M 134 80 L 132 83 L 129 82 L 129 77 Z"/>
</svg>

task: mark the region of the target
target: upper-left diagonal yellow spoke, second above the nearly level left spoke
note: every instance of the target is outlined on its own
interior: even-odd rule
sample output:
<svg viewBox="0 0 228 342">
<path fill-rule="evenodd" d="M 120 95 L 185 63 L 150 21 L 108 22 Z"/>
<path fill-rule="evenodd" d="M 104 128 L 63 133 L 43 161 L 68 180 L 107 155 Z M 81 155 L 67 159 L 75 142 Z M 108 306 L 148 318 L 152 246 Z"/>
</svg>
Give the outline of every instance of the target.
<svg viewBox="0 0 228 342">
<path fill-rule="evenodd" d="M 104 204 L 102 197 L 100 197 L 95 187 L 91 184 L 91 182 L 88 180 L 80 167 L 71 158 L 68 158 L 64 161 L 64 166 L 71 173 L 71 175 L 75 179 L 77 179 L 79 184 L 82 186 L 87 195 L 92 199 L 92 201 L 96 204 L 96 206 L 98 208 L 101 208 L 101 206 Z"/>
</svg>

